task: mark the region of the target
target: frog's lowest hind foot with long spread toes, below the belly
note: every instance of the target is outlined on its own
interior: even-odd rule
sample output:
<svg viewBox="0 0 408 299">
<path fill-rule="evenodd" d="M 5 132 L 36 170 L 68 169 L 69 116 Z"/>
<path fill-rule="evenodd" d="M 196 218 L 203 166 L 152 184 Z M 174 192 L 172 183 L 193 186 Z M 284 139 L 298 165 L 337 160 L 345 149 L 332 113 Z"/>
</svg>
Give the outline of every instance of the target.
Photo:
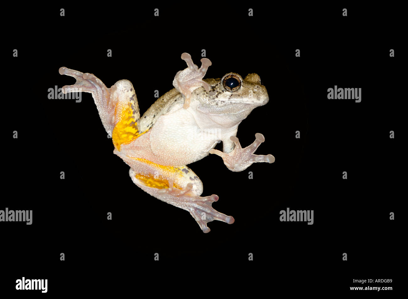
<svg viewBox="0 0 408 299">
<path fill-rule="evenodd" d="M 169 186 L 173 186 L 173 180 L 171 179 L 169 179 Z M 157 193 L 162 195 L 160 196 L 162 197 L 160 198 L 161 200 L 189 211 L 204 233 L 210 231 L 207 223 L 213 220 L 223 221 L 228 224 L 234 223 L 235 220 L 232 216 L 220 213 L 211 206 L 213 202 L 218 200 L 217 195 L 213 194 L 201 197 L 193 193 L 191 191 L 192 188 L 193 185 L 188 183 L 184 189 L 169 187 L 166 189 L 160 189 Z M 166 199 L 163 199 L 163 197 Z"/>
</svg>

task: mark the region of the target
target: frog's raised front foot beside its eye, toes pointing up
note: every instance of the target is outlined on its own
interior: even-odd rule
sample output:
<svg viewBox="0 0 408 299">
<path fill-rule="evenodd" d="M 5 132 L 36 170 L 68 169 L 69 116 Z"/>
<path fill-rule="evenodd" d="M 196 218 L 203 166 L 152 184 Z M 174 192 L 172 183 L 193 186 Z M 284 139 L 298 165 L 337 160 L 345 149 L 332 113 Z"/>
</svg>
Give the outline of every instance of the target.
<svg viewBox="0 0 408 299">
<path fill-rule="evenodd" d="M 198 68 L 193 63 L 190 54 L 183 53 L 181 59 L 187 63 L 188 68 L 177 72 L 173 80 L 173 86 L 186 98 L 183 107 L 187 109 L 190 106 L 191 92 L 199 87 L 204 87 L 207 92 L 210 91 L 211 85 L 202 81 L 202 79 L 208 70 L 208 66 L 211 66 L 211 61 L 208 58 L 202 58 L 201 67 Z"/>
</svg>

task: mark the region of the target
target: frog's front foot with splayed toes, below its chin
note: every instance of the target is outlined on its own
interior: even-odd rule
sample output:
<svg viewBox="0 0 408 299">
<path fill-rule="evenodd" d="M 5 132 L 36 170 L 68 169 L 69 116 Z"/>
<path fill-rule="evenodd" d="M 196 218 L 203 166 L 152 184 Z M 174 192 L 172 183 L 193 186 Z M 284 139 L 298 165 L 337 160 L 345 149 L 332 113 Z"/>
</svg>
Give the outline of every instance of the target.
<svg viewBox="0 0 408 299">
<path fill-rule="evenodd" d="M 256 133 L 255 141 L 244 149 L 241 147 L 241 144 L 239 144 L 236 136 L 231 136 L 230 139 L 235 143 L 235 148 L 232 152 L 226 154 L 219 150 L 210 150 L 210 154 L 216 154 L 222 157 L 224 164 L 231 171 L 242 171 L 255 162 L 275 162 L 275 157 L 271 154 L 266 156 L 254 154 L 258 146 L 265 141 L 264 135 Z"/>
</svg>

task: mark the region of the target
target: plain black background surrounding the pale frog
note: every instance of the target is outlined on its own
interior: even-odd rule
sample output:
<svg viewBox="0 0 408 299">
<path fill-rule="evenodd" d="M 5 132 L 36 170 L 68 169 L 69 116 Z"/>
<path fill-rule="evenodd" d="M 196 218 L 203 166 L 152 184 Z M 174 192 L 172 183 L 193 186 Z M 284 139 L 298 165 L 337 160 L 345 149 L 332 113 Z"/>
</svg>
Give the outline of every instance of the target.
<svg viewBox="0 0 408 299">
<path fill-rule="evenodd" d="M 3 31 L 0 209 L 31 209 L 33 224 L 0 223 L 1 292 L 41 294 L 16 291 L 22 276 L 48 279 L 50 296 L 153 295 L 167 284 L 166 292 L 179 295 L 188 287 L 211 294 L 213 285 L 255 294 L 267 288 L 267 295 L 361 295 L 350 291 L 361 286 L 353 279 L 369 278 L 392 279 L 379 286 L 394 290 L 381 294 L 397 292 L 406 98 L 400 75 L 406 37 L 397 7 L 96 6 L 7 12 L 13 22 Z M 83 93 L 81 103 L 48 99 L 48 88 L 75 82 L 59 75 L 66 66 L 93 73 L 108 87 L 129 79 L 142 114 L 155 101 L 154 90 L 163 95 L 173 88 L 175 73 L 186 67 L 181 53 L 200 66 L 202 49 L 213 63 L 205 78 L 261 77 L 270 100 L 242 121 L 237 137 L 247 146 L 255 133 L 264 134 L 256 153 L 276 158 L 239 173 L 215 155 L 189 165 L 204 184 L 202 196 L 217 194 L 213 207 L 235 218 L 232 225 L 209 223 L 208 234 L 188 212 L 133 184 L 129 167 L 112 153 L 91 94 Z M 335 85 L 361 88 L 361 102 L 328 100 Z M 314 224 L 280 222 L 287 207 L 314 210 Z"/>
</svg>

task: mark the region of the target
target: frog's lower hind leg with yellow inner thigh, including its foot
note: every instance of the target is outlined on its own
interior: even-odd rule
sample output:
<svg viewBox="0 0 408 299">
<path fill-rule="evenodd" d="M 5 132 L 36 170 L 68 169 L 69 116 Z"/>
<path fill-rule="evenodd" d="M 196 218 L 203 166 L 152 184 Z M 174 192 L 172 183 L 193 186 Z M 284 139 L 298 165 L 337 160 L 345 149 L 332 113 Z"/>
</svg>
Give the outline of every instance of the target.
<svg viewBox="0 0 408 299">
<path fill-rule="evenodd" d="M 138 160 L 139 165 L 132 163 L 138 171 L 133 168 L 129 170 L 133 182 L 151 196 L 190 212 L 204 233 L 210 231 L 207 223 L 213 220 L 228 224 L 234 222 L 232 216 L 213 209 L 212 204 L 218 200 L 217 195 L 200 196 L 202 182 L 187 166 L 168 167 Z"/>
</svg>

